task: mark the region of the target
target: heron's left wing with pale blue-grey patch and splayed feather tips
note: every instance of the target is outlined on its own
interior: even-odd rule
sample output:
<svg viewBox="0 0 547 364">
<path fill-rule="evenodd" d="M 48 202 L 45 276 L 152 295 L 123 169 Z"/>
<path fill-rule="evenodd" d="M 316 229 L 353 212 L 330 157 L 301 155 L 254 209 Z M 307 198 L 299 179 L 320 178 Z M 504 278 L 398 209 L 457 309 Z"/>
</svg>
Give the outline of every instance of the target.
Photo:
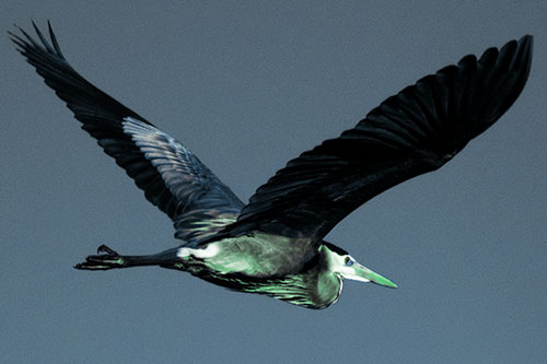
<svg viewBox="0 0 547 364">
<path fill-rule="evenodd" d="M 146 198 L 174 222 L 175 237 L 196 245 L 234 222 L 243 207 L 187 148 L 108 96 L 67 62 L 48 23 L 49 44 L 10 33 L 18 50 L 67 103 L 82 129 L 126 169 Z"/>
</svg>

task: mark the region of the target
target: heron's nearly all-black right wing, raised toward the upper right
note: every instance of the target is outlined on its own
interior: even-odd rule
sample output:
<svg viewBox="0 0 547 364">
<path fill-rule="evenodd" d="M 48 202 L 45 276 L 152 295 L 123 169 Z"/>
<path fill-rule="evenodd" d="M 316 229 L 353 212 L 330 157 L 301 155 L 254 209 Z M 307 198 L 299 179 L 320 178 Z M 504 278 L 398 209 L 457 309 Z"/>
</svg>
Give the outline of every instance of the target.
<svg viewBox="0 0 547 364">
<path fill-rule="evenodd" d="M 323 238 L 386 189 L 450 161 L 498 120 L 524 87 L 533 38 L 487 49 L 384 101 L 353 129 L 290 161 L 222 232 Z"/>
</svg>

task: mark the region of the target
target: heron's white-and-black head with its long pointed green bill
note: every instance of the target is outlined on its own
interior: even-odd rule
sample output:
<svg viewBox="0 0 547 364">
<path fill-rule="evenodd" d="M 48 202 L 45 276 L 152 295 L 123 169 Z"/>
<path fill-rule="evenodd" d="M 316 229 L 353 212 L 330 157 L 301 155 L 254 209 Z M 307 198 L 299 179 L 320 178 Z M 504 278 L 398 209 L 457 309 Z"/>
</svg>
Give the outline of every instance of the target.
<svg viewBox="0 0 547 364">
<path fill-rule="evenodd" d="M 338 274 L 340 278 L 360 282 L 372 282 L 391 289 L 397 287 L 397 284 L 389 281 L 387 278 L 358 263 L 348 251 L 336 245 L 323 242 L 319 250 L 328 270 Z"/>
</svg>

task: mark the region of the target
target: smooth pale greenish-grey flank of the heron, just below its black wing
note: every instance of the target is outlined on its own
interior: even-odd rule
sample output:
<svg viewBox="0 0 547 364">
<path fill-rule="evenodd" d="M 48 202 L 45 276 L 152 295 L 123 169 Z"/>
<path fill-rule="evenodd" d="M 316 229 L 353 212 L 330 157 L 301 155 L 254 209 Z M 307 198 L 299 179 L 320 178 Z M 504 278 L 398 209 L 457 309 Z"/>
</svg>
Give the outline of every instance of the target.
<svg viewBox="0 0 547 364">
<path fill-rule="evenodd" d="M 191 255 L 220 274 L 249 277 L 286 275 L 300 271 L 312 255 L 307 239 L 269 234 L 226 238 Z"/>
</svg>

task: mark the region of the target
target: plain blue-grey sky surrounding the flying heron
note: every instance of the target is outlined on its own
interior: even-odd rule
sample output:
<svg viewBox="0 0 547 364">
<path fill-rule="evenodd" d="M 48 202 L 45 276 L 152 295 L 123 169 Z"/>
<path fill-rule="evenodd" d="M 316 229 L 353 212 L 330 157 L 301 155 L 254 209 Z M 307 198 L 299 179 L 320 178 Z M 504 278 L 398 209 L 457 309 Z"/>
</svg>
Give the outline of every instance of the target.
<svg viewBox="0 0 547 364">
<path fill-rule="evenodd" d="M 0 362 L 515 363 L 547 357 L 547 2 L 22 1 L 88 80 L 189 146 L 243 200 L 284 163 L 461 57 L 535 35 L 513 107 L 439 172 L 327 239 L 398 290 L 315 312 L 158 268 L 171 221 L 0 39 Z M 114 3 L 114 4 L 113 4 Z"/>
</svg>

